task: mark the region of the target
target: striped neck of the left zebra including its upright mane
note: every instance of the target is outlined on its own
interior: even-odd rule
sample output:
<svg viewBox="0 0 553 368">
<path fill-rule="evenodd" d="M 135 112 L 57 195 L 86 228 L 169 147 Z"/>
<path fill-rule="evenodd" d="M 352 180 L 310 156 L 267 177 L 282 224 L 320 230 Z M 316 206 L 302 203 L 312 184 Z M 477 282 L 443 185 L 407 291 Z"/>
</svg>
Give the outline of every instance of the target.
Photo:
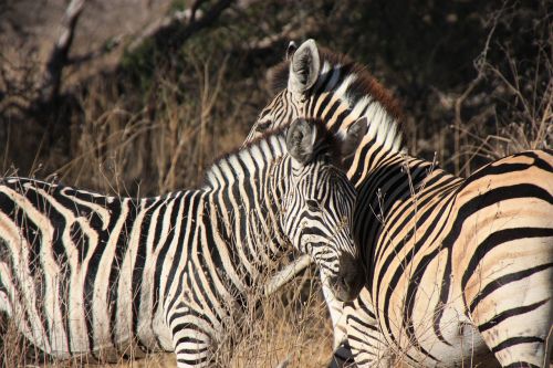
<svg viewBox="0 0 553 368">
<path fill-rule="evenodd" d="M 283 134 L 273 134 L 218 159 L 202 188 L 216 241 L 227 244 L 251 286 L 290 241 L 284 235 L 281 200 L 292 162 Z"/>
</svg>

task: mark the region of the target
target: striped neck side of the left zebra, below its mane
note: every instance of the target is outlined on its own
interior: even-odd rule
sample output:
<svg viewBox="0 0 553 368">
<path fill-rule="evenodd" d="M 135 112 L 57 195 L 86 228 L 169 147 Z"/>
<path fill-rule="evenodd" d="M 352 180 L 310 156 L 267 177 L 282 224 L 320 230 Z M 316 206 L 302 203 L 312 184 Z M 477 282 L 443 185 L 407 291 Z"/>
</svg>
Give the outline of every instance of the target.
<svg viewBox="0 0 553 368">
<path fill-rule="evenodd" d="M 280 199 L 286 186 L 282 170 L 290 164 L 290 158 L 276 157 L 251 172 L 241 172 L 239 179 L 234 171 L 233 180 L 206 191 L 215 245 L 229 253 L 244 287 L 257 283 L 289 243 L 281 228 Z"/>
</svg>

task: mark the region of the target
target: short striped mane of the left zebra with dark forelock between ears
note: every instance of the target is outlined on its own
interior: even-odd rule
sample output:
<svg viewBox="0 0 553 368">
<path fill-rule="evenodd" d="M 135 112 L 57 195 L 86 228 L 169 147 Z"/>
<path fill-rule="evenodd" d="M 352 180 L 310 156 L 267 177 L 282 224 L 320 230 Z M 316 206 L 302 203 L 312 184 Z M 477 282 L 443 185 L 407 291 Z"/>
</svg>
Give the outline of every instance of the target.
<svg viewBox="0 0 553 368">
<path fill-rule="evenodd" d="M 334 166 L 342 169 L 340 137 L 332 134 L 321 119 L 306 119 L 315 124 L 317 128 L 317 144 L 313 157 L 324 155 Z M 285 133 L 290 124 L 267 130 L 259 138 L 219 156 L 206 171 L 204 187 L 220 188 L 222 183 L 217 178 L 218 176 L 225 178 L 228 182 L 238 179 L 233 168 L 240 165 L 240 161 L 253 160 L 255 161 L 257 169 L 260 169 L 273 159 L 286 155 Z"/>
</svg>

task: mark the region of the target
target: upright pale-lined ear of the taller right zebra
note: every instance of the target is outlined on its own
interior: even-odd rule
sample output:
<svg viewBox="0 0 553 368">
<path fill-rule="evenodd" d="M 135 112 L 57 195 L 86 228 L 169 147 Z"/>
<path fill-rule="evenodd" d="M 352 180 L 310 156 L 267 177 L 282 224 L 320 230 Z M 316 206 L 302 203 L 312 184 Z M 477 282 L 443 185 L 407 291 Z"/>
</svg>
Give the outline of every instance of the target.
<svg viewBox="0 0 553 368">
<path fill-rule="evenodd" d="M 294 93 L 303 93 L 311 88 L 319 78 L 321 60 L 314 40 L 307 40 L 294 52 L 290 60 L 288 88 Z"/>
</svg>

